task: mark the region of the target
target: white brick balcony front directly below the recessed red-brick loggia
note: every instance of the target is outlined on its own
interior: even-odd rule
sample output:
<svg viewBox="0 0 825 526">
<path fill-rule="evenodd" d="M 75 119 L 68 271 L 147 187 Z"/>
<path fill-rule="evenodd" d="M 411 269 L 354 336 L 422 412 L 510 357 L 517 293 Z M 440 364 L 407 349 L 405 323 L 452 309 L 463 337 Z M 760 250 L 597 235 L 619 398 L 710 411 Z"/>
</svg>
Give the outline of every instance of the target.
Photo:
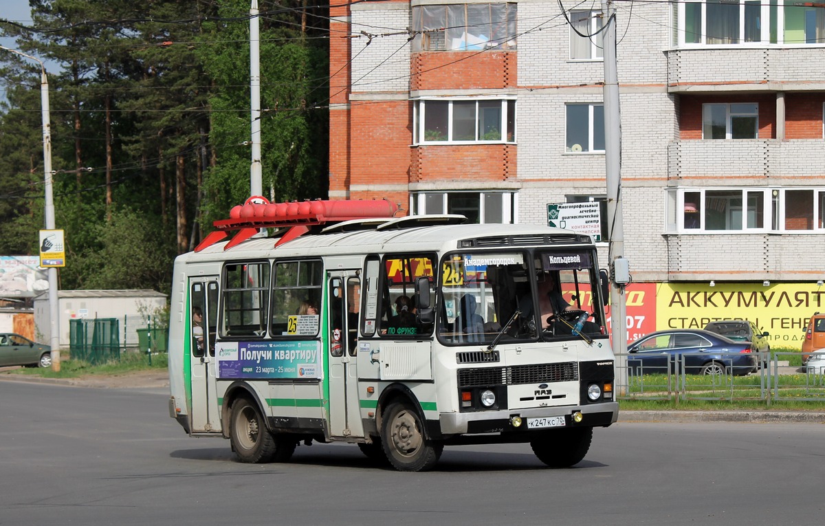
<svg viewBox="0 0 825 526">
<path fill-rule="evenodd" d="M 667 147 L 671 184 L 825 184 L 825 140 L 677 140 Z"/>
</svg>

